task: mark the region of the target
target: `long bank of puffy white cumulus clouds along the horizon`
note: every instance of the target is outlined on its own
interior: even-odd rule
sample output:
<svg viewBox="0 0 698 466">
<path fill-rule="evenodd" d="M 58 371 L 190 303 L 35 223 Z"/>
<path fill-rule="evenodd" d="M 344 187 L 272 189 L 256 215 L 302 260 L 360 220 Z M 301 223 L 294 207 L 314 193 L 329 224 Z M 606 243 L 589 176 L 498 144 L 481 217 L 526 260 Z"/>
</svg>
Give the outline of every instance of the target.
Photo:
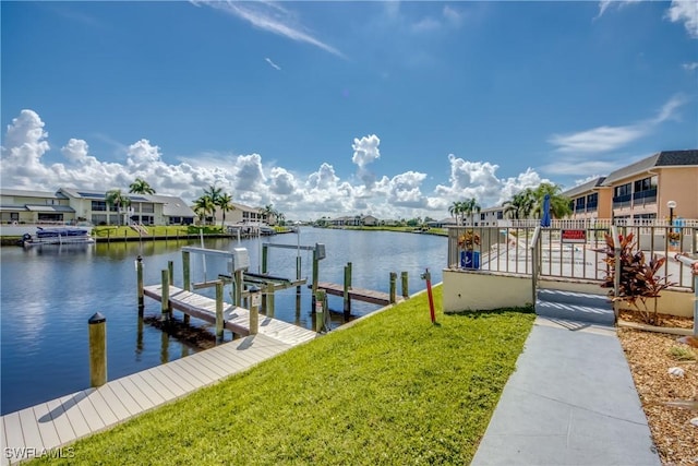
<svg viewBox="0 0 698 466">
<path fill-rule="evenodd" d="M 366 168 L 381 157 L 381 140 L 375 134 L 357 138 L 352 162 Z M 447 216 L 448 205 L 474 196 L 480 205 L 502 203 L 512 193 L 541 182 L 529 169 L 516 177 L 500 179 L 498 167 L 488 162 L 469 162 L 454 155 L 444 157 L 450 177 L 426 191 L 428 174 L 369 174 L 371 183 L 356 182 L 349 174 L 342 179 L 328 163 L 311 174 L 296 174 L 264 163 L 260 154 L 233 155 L 205 153 L 178 163 L 166 162 L 163 150 L 146 139 L 121 147 L 123 163 L 99 160 L 81 139 L 70 139 L 61 148 L 60 163 L 47 165 L 43 156 L 50 151 L 48 133 L 39 116 L 23 110 L 8 126 L 2 146 L 1 183 L 3 188 L 57 190 L 81 188 L 107 191 L 128 189 L 136 177 L 143 178 L 158 194 L 177 195 L 192 202 L 209 186 L 222 188 L 234 202 L 250 206 L 274 204 L 288 219 L 315 219 L 322 216 L 372 214 L 378 218 Z M 347 157 L 349 153 L 347 154 Z M 354 181 L 351 181 L 354 180 Z"/>
</svg>

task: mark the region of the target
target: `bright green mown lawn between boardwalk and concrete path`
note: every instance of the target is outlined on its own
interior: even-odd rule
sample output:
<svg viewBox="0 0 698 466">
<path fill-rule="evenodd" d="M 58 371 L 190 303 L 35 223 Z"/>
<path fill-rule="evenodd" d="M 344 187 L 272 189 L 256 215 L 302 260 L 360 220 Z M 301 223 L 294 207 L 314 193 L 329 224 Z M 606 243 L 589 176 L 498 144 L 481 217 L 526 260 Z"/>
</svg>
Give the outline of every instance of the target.
<svg viewBox="0 0 698 466">
<path fill-rule="evenodd" d="M 441 287 L 434 288 L 441 308 Z M 73 445 L 70 464 L 468 464 L 534 314 L 422 294 Z M 56 459 L 39 459 L 53 463 Z"/>
</svg>

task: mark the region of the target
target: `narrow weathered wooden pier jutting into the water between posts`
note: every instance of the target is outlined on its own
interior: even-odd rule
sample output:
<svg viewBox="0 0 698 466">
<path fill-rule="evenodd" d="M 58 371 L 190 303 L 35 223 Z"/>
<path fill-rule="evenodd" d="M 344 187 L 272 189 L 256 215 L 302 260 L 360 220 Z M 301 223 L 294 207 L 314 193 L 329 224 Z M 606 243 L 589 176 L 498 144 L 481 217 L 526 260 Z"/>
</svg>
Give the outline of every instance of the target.
<svg viewBox="0 0 698 466">
<path fill-rule="evenodd" d="M 156 301 L 163 300 L 163 286 L 151 285 L 143 287 L 143 294 Z M 176 286 L 170 286 L 170 304 L 172 309 L 182 311 L 192 318 L 205 322 L 216 323 L 216 300 L 191 291 L 184 291 Z M 250 311 L 224 302 L 222 308 L 224 328 L 238 335 L 250 334 Z M 299 327 L 298 325 L 260 315 L 260 334 L 279 339 L 289 344 L 303 343 L 315 337 L 315 332 Z"/>
</svg>

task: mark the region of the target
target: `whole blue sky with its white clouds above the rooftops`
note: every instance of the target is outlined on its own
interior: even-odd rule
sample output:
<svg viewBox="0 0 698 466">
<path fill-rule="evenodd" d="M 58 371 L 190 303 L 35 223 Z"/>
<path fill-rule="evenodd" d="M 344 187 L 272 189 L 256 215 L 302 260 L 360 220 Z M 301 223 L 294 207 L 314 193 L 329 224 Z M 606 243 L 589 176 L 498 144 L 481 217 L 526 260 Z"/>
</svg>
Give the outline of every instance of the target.
<svg viewBox="0 0 698 466">
<path fill-rule="evenodd" d="M 1 3 L 3 188 L 447 216 L 698 147 L 698 3 Z"/>
</svg>

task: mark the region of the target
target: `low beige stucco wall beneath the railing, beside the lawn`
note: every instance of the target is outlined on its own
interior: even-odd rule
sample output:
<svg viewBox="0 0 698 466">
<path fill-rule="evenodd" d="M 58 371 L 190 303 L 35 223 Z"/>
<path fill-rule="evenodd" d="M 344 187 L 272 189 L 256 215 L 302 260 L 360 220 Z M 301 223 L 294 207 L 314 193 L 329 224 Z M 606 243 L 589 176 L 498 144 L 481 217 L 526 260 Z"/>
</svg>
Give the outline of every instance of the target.
<svg viewBox="0 0 698 466">
<path fill-rule="evenodd" d="M 531 278 L 465 270 L 445 270 L 444 312 L 521 307 L 531 302 Z"/>
</svg>

